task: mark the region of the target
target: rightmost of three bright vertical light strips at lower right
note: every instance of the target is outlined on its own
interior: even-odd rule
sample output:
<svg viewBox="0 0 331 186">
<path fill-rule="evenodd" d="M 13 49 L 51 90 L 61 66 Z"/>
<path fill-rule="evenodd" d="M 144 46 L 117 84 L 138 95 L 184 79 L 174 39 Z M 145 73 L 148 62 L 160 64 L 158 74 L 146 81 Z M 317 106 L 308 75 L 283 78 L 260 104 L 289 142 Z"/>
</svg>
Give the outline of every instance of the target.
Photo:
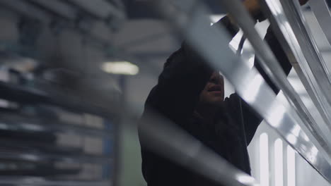
<svg viewBox="0 0 331 186">
<path fill-rule="evenodd" d="M 296 186 L 296 154 L 289 145 L 287 146 L 287 185 Z"/>
</svg>

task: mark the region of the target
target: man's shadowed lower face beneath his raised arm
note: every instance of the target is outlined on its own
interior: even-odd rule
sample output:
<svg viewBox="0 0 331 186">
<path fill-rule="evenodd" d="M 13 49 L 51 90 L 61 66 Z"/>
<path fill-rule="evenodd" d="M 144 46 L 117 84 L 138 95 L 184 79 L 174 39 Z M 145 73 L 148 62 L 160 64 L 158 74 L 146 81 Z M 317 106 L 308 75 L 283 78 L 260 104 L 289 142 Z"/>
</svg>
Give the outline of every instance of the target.
<svg viewBox="0 0 331 186">
<path fill-rule="evenodd" d="M 219 105 L 224 100 L 224 79 L 214 72 L 200 93 L 200 104 Z"/>
</svg>

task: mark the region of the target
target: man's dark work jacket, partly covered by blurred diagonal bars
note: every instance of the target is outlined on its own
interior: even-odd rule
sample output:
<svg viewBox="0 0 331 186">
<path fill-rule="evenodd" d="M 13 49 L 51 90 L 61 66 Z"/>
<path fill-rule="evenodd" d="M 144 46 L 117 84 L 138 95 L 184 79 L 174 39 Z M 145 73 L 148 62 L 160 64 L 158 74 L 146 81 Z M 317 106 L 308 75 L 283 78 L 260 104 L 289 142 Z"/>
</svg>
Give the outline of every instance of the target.
<svg viewBox="0 0 331 186">
<path fill-rule="evenodd" d="M 238 31 L 232 27 L 227 17 L 217 24 L 224 25 L 231 37 Z M 271 30 L 268 30 L 265 39 L 285 73 L 288 74 L 291 65 Z M 255 67 L 265 77 L 274 92 L 279 92 L 258 63 L 255 63 Z M 231 94 L 225 99 L 219 111 L 219 118 L 214 125 L 207 125 L 194 117 L 194 108 L 199 101 L 199 94 L 207 84 L 211 73 L 211 68 L 206 65 L 204 60 L 192 51 L 190 46 L 182 44 L 182 47 L 166 61 L 163 72 L 158 77 L 158 84 L 153 87 L 146 100 L 145 110 L 139 123 L 150 122 L 149 117 L 155 112 L 161 114 L 223 159 L 232 163 L 233 166 L 250 174 L 247 146 L 262 118 L 250 109 L 250 106 L 237 94 Z M 139 138 L 141 139 L 140 134 Z M 143 141 L 141 141 L 141 156 L 142 172 L 148 186 L 218 185 L 163 156 L 154 154 L 153 151 L 146 148 Z"/>
</svg>

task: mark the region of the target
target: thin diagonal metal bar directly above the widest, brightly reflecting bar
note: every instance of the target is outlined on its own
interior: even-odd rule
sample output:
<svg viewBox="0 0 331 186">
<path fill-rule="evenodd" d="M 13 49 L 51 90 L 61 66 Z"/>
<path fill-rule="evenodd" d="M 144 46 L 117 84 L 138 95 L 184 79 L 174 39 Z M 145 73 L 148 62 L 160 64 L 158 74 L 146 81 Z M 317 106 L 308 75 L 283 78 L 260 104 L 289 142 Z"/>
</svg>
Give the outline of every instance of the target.
<svg viewBox="0 0 331 186">
<path fill-rule="evenodd" d="M 313 135 L 313 137 L 316 139 L 315 144 L 318 143 L 320 146 L 318 149 L 320 151 L 324 151 L 325 156 L 329 156 L 327 158 L 331 160 L 330 142 L 327 140 L 327 137 L 323 135 L 319 125 L 313 116 L 311 116 L 305 104 L 303 104 L 303 101 L 301 100 L 298 93 L 296 93 L 294 87 L 292 87 L 292 85 L 287 80 L 286 74 L 279 65 L 277 58 L 272 53 L 272 50 L 259 37 L 257 31 L 254 28 L 255 23 L 253 22 L 252 18 L 250 18 L 248 12 L 245 11 L 245 9 L 241 6 L 240 1 L 224 0 L 221 2 L 223 3 L 224 7 L 228 9 L 229 13 L 233 15 L 233 18 L 236 19 L 238 25 L 243 29 L 245 36 L 250 40 L 250 43 L 254 47 L 255 52 L 260 59 L 262 68 L 264 68 L 265 72 L 269 75 L 269 77 L 271 77 L 274 84 L 281 88 L 286 98 L 288 99 L 289 104 L 295 109 L 290 109 L 289 111 L 291 113 L 296 111 L 303 122 L 301 128 L 303 128 L 308 134 L 310 132 Z M 325 122 L 328 122 L 328 120 L 325 120 Z M 327 133 L 330 133 L 330 131 L 331 130 L 329 130 Z"/>
</svg>

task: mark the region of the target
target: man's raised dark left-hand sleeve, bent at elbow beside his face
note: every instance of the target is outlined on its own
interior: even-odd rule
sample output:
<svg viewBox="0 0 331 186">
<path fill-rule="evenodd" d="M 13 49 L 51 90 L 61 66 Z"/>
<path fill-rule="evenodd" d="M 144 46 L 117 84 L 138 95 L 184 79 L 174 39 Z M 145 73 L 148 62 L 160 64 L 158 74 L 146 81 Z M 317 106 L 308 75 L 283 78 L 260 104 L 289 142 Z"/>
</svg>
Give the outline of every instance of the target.
<svg viewBox="0 0 331 186">
<path fill-rule="evenodd" d="M 216 25 L 224 25 L 231 37 L 238 32 L 228 17 L 222 18 L 209 29 L 215 29 Z M 204 59 L 184 42 L 166 61 L 158 84 L 146 100 L 145 110 L 153 109 L 174 122 L 185 118 L 194 111 L 199 94 L 211 73 Z"/>
</svg>

